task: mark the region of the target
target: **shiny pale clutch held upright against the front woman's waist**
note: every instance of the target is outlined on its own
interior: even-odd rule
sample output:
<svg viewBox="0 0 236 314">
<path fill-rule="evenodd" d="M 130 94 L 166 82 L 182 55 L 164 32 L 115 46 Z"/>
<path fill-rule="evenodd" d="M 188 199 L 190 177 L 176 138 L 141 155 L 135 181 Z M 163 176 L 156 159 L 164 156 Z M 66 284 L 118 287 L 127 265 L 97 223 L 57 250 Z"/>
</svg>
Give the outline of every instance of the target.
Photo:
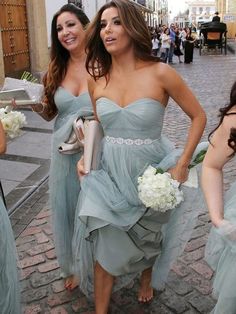
<svg viewBox="0 0 236 314">
<path fill-rule="evenodd" d="M 103 129 L 96 120 L 84 122 L 84 170 L 89 173 L 99 167 L 102 151 Z"/>
</svg>

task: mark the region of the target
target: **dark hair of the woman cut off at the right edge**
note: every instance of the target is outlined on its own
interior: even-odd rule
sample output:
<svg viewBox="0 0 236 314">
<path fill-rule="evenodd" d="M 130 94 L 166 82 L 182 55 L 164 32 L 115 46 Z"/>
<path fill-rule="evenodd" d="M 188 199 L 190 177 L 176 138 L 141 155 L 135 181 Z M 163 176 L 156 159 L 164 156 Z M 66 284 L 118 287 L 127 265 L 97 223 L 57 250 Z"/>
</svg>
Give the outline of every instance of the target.
<svg viewBox="0 0 236 314">
<path fill-rule="evenodd" d="M 230 101 L 229 104 L 227 104 L 225 107 L 220 108 L 220 122 L 217 125 L 217 127 L 211 131 L 211 133 L 208 136 L 208 139 L 210 141 L 210 137 L 211 135 L 219 128 L 219 126 L 222 124 L 224 117 L 229 115 L 228 111 L 236 105 L 236 81 L 234 82 L 231 91 L 230 91 Z M 230 148 L 233 149 L 233 153 L 230 155 L 230 157 L 232 157 L 235 153 L 236 153 L 236 128 L 231 128 L 230 130 L 230 135 L 229 135 L 229 139 L 228 139 L 228 145 Z"/>
</svg>

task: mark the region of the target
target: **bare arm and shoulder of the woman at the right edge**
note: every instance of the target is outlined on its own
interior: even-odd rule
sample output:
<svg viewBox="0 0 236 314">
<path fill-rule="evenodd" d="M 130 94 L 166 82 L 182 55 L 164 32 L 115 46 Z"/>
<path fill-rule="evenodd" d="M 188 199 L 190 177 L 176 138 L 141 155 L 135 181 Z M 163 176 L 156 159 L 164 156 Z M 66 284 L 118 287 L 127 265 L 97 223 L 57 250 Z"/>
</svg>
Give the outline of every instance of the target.
<svg viewBox="0 0 236 314">
<path fill-rule="evenodd" d="M 229 112 L 236 112 L 236 106 Z M 225 116 L 214 132 L 202 166 L 202 189 L 212 224 L 220 227 L 224 219 L 223 167 L 230 160 L 233 150 L 228 146 L 230 129 L 236 127 L 236 116 Z"/>
</svg>

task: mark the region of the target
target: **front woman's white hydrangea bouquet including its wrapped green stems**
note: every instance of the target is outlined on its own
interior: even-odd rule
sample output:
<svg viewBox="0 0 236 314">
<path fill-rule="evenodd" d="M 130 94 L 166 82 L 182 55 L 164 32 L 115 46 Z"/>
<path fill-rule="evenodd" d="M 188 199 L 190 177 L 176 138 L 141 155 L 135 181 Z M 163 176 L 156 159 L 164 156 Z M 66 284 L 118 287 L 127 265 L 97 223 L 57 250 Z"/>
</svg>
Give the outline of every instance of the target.
<svg viewBox="0 0 236 314">
<path fill-rule="evenodd" d="M 183 185 L 189 187 L 198 186 L 195 166 L 203 161 L 206 151 L 205 148 L 202 149 L 189 165 L 189 179 Z M 150 207 L 159 212 L 173 209 L 184 201 L 180 183 L 172 179 L 170 173 L 151 165 L 138 178 L 138 195 L 147 208 Z"/>
</svg>

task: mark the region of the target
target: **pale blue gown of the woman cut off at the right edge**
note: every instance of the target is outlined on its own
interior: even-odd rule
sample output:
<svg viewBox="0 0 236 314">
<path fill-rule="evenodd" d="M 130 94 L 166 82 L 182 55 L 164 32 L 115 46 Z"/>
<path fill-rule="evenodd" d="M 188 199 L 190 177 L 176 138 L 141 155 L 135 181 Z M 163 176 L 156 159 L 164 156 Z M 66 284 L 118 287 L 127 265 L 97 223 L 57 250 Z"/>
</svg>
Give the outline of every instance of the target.
<svg viewBox="0 0 236 314">
<path fill-rule="evenodd" d="M 224 218 L 236 230 L 236 182 L 225 195 Z M 229 239 L 212 227 L 205 250 L 205 260 L 215 271 L 213 296 L 217 304 L 212 314 L 236 313 L 236 231 Z"/>
</svg>

